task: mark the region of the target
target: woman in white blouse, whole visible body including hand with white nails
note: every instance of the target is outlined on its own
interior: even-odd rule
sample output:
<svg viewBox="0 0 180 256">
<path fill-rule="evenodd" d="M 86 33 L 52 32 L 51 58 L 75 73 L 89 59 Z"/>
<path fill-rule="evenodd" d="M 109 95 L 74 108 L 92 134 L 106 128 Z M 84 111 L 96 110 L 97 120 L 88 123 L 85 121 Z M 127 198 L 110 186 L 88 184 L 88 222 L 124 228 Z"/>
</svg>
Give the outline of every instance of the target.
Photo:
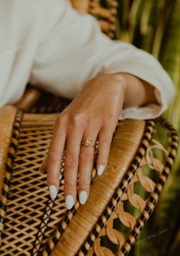
<svg viewBox="0 0 180 256">
<path fill-rule="evenodd" d="M 78 172 L 81 203 L 90 189 L 94 148 L 81 146 L 81 141 L 87 137 L 93 138 L 93 143 L 99 140 L 97 169 L 102 175 L 118 118 L 161 115 L 174 95 L 172 81 L 152 55 L 113 42 L 100 32 L 94 18 L 78 14 L 66 0 L 0 3 L 5 6 L 0 15 L 3 52 L 10 42 L 9 49 L 23 45 L 0 59 L 1 106 L 18 100 L 27 81 L 74 98 L 57 118 L 41 167 L 47 171 L 47 185 L 55 198 L 66 148 L 65 195 L 71 208 L 77 197 Z M 28 23 L 21 22 L 21 15 L 28 17 Z"/>
</svg>

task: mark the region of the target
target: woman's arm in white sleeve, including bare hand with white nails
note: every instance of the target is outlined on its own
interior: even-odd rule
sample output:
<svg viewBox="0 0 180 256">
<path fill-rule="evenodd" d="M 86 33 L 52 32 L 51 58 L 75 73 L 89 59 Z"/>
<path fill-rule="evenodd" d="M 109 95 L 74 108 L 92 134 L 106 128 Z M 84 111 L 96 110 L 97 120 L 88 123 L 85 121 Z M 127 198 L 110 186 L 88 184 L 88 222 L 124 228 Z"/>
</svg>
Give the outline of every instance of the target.
<svg viewBox="0 0 180 256">
<path fill-rule="evenodd" d="M 111 41 L 90 15 L 79 15 L 62 3 L 63 18 L 51 38 L 44 38 L 31 82 L 74 98 L 57 118 L 47 158 L 41 165 L 41 170 L 47 171 L 47 185 L 54 199 L 66 149 L 64 193 L 67 208 L 72 208 L 77 200 L 78 173 L 81 204 L 90 191 L 94 148 L 81 142 L 92 138 L 94 144 L 98 139 L 97 173 L 102 175 L 118 118 L 161 115 L 174 89 L 155 58 L 133 45 Z"/>
</svg>

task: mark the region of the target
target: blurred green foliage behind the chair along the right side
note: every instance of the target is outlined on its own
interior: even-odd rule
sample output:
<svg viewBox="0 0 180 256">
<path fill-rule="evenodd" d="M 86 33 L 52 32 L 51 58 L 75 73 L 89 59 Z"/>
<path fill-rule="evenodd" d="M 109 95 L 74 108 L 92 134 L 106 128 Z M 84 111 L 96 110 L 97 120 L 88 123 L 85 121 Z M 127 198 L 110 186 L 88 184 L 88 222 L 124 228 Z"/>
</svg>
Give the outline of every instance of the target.
<svg viewBox="0 0 180 256">
<path fill-rule="evenodd" d="M 116 37 L 152 53 L 175 83 L 165 117 L 180 133 L 180 0 L 118 0 Z M 161 141 L 165 139 L 159 132 Z M 180 255 L 180 151 L 133 256 Z"/>
</svg>

